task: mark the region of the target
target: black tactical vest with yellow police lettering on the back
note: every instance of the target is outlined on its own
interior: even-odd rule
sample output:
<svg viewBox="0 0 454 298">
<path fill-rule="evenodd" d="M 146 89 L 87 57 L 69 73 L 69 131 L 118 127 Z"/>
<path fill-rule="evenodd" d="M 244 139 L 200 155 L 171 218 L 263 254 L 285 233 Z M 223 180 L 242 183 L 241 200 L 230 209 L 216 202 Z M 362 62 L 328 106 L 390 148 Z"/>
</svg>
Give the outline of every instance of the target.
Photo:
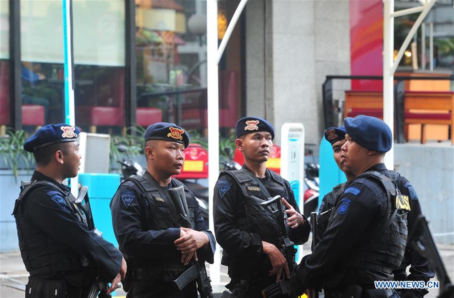
<svg viewBox="0 0 454 298">
<path fill-rule="evenodd" d="M 398 178 L 398 175 L 391 171 L 389 175 L 391 178 L 378 171 L 368 171 L 355 178 L 355 180 L 362 177 L 372 178 L 379 182 L 386 192 L 388 209 L 384 219 L 378 223 L 376 228 L 360 239 L 355 250 L 347 258 L 348 262 L 344 264 L 347 268 L 347 275 L 349 275 L 344 278 L 347 283 L 351 281 L 364 284 L 373 280 L 381 280 L 384 275 L 392 277 L 392 271 L 398 268 L 402 262 L 407 245 L 408 210 L 396 208 L 396 197 L 402 198 L 394 182 L 394 178 Z M 343 192 L 337 192 L 337 198 L 335 198 L 337 205 L 342 194 Z M 328 228 L 333 214 L 335 212 L 331 214 Z M 374 274 L 374 271 L 381 275 Z"/>
</svg>

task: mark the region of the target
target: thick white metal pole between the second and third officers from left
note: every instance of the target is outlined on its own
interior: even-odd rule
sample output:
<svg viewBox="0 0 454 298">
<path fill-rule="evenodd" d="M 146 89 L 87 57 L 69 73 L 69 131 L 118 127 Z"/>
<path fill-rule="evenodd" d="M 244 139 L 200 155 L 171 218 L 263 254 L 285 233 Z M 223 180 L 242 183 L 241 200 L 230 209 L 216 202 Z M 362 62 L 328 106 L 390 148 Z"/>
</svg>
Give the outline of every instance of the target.
<svg viewBox="0 0 454 298">
<path fill-rule="evenodd" d="M 218 2 L 207 0 L 207 97 L 208 97 L 208 188 L 210 230 L 214 231 L 213 195 L 219 175 L 219 86 L 218 86 Z M 221 257 L 216 244 L 210 276 L 214 284 L 221 280 Z"/>
</svg>

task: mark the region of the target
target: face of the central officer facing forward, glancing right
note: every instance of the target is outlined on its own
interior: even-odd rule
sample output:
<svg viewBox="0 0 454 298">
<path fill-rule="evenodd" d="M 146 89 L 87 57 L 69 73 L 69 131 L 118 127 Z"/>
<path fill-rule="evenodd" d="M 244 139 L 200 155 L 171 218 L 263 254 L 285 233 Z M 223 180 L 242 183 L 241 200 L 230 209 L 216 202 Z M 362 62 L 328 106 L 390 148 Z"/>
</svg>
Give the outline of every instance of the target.
<svg viewBox="0 0 454 298">
<path fill-rule="evenodd" d="M 267 161 L 271 156 L 273 141 L 269 132 L 257 132 L 244 135 L 242 142 L 237 142 L 236 145 L 243 152 L 245 159 L 250 159 L 258 162 Z"/>
</svg>

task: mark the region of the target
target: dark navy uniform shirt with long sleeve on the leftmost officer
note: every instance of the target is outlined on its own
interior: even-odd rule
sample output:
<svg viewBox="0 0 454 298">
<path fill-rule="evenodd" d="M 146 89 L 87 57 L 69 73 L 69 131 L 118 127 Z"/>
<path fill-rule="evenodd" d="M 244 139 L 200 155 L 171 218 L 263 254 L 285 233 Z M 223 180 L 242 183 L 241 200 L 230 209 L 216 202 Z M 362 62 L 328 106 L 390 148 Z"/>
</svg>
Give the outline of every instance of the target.
<svg viewBox="0 0 454 298">
<path fill-rule="evenodd" d="M 71 189 L 50 177 L 34 171 L 32 181 L 48 181 L 57 185 L 62 194 L 69 194 Z M 113 280 L 120 272 L 122 254 L 81 222 L 70 209 L 61 194 L 53 188 L 42 186 L 31 190 L 22 199 L 21 210 L 25 220 L 33 223 L 42 232 L 51 235 L 80 255 L 86 256 L 90 263 L 99 270 L 100 277 Z M 74 272 L 77 275 L 77 272 Z M 68 277 L 68 273 L 65 277 Z M 56 279 L 59 274 L 44 274 L 37 277 Z"/>
</svg>

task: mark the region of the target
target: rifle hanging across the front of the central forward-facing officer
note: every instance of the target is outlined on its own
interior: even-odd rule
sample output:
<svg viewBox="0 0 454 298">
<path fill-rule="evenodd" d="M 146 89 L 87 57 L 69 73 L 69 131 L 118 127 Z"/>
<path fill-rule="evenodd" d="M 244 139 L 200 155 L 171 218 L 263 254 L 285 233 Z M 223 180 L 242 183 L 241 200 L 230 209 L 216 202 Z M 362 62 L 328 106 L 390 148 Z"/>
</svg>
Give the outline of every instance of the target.
<svg viewBox="0 0 454 298">
<path fill-rule="evenodd" d="M 271 209 L 270 205 L 276 203 L 277 209 Z M 294 248 L 294 243 L 290 241 L 287 231 L 285 229 L 285 217 L 283 213 L 282 203 L 281 203 L 281 196 L 275 196 L 273 198 L 268 199 L 268 201 L 261 203 L 263 207 L 268 207 L 268 209 L 275 215 L 277 220 L 279 229 L 279 245 L 278 249 L 284 258 L 287 260 L 287 265 L 290 273 L 295 268 L 295 252 L 296 249 Z M 272 285 L 267 286 L 262 290 L 262 295 L 264 298 L 273 298 L 276 296 L 280 296 L 282 294 L 290 295 L 292 292 L 290 279 L 283 278 L 279 280 L 279 283 L 274 283 Z"/>
</svg>

